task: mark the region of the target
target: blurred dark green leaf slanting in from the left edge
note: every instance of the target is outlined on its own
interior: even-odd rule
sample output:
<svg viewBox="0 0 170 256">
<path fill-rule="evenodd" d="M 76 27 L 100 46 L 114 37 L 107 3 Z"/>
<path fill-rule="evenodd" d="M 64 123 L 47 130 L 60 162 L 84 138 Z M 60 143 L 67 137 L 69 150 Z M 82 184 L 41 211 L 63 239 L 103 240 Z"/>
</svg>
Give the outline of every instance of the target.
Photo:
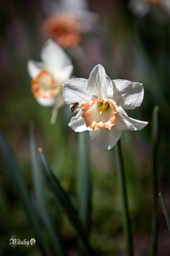
<svg viewBox="0 0 170 256">
<path fill-rule="evenodd" d="M 40 249 L 42 250 L 43 255 L 52 256 L 51 250 L 46 242 L 44 233 L 39 222 L 37 212 L 34 209 L 34 206 L 30 200 L 30 196 L 22 175 L 22 172 L 19 168 L 19 165 L 13 156 L 10 147 L 6 143 L 2 132 L 0 131 L 0 148 L 2 151 L 3 159 L 7 166 L 7 169 L 10 173 L 12 182 L 17 191 L 18 197 L 21 200 L 23 209 L 28 217 L 28 220 L 35 231 L 36 240 L 38 240 Z"/>
</svg>

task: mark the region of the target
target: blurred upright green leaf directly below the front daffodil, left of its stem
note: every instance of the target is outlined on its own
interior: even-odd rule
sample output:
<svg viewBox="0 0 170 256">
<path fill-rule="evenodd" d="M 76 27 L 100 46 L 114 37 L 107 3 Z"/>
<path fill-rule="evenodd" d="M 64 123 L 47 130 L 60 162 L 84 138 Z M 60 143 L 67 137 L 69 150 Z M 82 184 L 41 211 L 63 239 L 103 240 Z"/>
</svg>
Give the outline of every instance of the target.
<svg viewBox="0 0 170 256">
<path fill-rule="evenodd" d="M 88 133 L 78 133 L 78 153 L 77 153 L 77 173 L 78 173 L 78 213 L 86 233 L 90 230 L 91 213 L 91 169 L 88 147 Z M 80 255 L 84 255 L 84 250 L 80 245 Z"/>
</svg>

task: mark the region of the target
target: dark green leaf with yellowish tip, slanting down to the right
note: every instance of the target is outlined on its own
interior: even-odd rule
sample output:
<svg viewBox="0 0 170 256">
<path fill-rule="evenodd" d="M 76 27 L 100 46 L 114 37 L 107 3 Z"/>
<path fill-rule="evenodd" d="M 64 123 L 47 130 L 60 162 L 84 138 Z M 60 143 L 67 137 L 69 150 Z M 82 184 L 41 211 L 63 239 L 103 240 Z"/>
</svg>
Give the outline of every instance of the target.
<svg viewBox="0 0 170 256">
<path fill-rule="evenodd" d="M 73 204 L 71 203 L 69 195 L 65 192 L 65 190 L 63 190 L 63 188 L 60 186 L 58 180 L 51 172 L 51 170 L 45 160 L 45 157 L 42 153 L 42 149 L 39 149 L 39 157 L 40 157 L 39 159 L 40 159 L 40 164 L 42 167 L 44 177 L 46 179 L 47 184 L 49 185 L 49 188 L 50 188 L 54 198 L 59 203 L 59 205 L 62 207 L 63 211 L 65 212 L 68 219 L 71 221 L 73 227 L 77 231 L 78 236 L 80 237 L 88 255 L 94 256 L 95 253 L 88 243 L 85 229 L 83 228 L 83 225 L 78 218 L 78 212 L 77 212 L 76 208 L 73 206 Z"/>
</svg>

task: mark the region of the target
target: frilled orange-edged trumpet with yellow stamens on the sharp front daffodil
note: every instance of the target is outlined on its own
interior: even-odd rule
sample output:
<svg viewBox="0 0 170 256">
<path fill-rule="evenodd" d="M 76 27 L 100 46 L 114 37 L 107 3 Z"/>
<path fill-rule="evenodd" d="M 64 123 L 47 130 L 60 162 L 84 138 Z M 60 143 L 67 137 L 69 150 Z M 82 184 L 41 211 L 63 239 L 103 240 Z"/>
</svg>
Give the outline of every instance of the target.
<svg viewBox="0 0 170 256">
<path fill-rule="evenodd" d="M 109 99 L 91 98 L 92 102 L 81 104 L 87 127 L 94 131 L 101 127 L 111 129 L 116 121 L 117 105 L 115 101 Z"/>
</svg>

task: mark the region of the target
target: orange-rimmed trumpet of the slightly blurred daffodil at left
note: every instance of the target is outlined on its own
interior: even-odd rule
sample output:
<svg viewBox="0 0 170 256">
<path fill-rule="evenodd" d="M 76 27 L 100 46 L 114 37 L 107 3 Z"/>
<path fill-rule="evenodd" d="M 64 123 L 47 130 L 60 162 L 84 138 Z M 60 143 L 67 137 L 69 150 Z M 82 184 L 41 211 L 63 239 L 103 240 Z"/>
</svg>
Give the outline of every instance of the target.
<svg viewBox="0 0 170 256">
<path fill-rule="evenodd" d="M 52 75 L 45 69 L 42 69 L 37 77 L 31 80 L 31 86 L 31 92 L 35 98 L 51 98 L 57 93 L 56 83 Z"/>
</svg>

